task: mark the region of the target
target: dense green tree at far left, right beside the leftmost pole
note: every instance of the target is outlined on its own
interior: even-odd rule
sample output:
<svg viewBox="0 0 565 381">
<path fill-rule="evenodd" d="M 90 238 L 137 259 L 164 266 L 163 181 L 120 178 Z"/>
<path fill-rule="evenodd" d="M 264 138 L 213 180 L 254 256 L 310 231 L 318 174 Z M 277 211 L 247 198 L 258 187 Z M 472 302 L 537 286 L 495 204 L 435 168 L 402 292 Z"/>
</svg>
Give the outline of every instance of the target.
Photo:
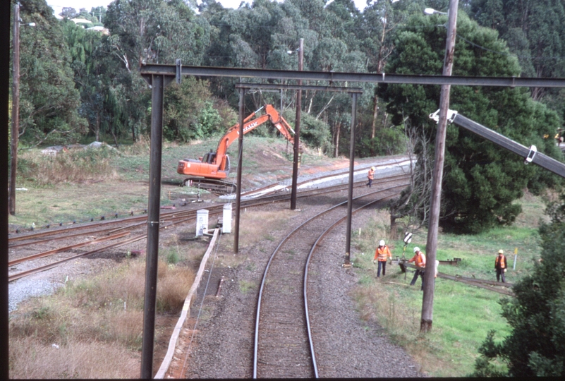
<svg viewBox="0 0 565 381">
<path fill-rule="evenodd" d="M 20 136 L 30 145 L 65 144 L 87 132 L 78 114 L 71 55 L 63 30 L 44 0 L 25 1 L 20 17 Z"/>
</svg>

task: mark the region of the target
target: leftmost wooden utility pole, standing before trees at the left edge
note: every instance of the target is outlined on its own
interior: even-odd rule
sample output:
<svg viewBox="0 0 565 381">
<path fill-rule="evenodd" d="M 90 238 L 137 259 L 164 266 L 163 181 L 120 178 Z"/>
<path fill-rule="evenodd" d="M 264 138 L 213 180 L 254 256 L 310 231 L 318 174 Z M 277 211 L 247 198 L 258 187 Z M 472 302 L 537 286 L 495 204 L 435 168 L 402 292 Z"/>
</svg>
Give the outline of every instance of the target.
<svg viewBox="0 0 565 381">
<path fill-rule="evenodd" d="M 18 167 L 18 135 L 20 135 L 20 4 L 13 7 L 13 92 L 12 92 L 12 139 L 10 165 L 10 194 L 8 209 L 16 214 L 16 169 Z"/>
</svg>

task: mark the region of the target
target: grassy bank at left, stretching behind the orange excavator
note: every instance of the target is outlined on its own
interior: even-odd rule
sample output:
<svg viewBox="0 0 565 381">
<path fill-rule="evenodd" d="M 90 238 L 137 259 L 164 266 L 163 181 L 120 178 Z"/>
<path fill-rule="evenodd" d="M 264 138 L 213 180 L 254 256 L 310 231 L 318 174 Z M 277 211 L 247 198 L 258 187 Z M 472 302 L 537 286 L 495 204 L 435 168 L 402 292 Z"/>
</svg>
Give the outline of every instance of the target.
<svg viewBox="0 0 565 381">
<path fill-rule="evenodd" d="M 183 176 L 176 173 L 178 160 L 196 159 L 209 148 L 215 149 L 218 140 L 219 136 L 191 145 L 164 143 L 162 177 L 181 180 Z M 251 157 L 257 152 L 264 155 L 267 140 L 269 138 L 246 136 L 244 155 Z M 274 141 L 268 145 L 269 150 L 284 152 L 284 140 Z M 237 144 L 231 145 L 228 152 L 232 157 L 230 178 L 233 180 L 236 178 Z M 16 185 L 20 190 L 16 191 L 16 215 L 8 216 L 10 230 L 89 222 L 102 216 L 108 219 L 116 213 L 119 217 L 130 212 L 142 213 L 147 209 L 149 194 L 149 153 L 147 138 L 122 146 L 119 151 L 110 147 L 70 150 L 56 157 L 42 155 L 40 150 L 21 152 Z M 251 173 L 257 169 L 245 168 L 245 171 Z M 184 188 L 174 189 L 178 193 L 184 191 Z M 172 204 L 168 192 L 162 190 L 161 205 Z"/>
</svg>

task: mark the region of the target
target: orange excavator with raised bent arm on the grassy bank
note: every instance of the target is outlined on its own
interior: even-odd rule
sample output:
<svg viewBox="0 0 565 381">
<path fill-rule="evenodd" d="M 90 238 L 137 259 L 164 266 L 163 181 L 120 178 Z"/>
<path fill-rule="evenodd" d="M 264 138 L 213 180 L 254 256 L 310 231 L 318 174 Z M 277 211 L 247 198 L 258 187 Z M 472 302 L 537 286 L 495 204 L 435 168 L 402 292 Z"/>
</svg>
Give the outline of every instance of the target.
<svg viewBox="0 0 565 381">
<path fill-rule="evenodd" d="M 254 111 L 243 119 L 243 134 L 253 131 L 266 121 L 271 121 L 279 132 L 291 143 L 294 143 L 294 131 L 290 124 L 274 109 L 272 104 L 265 105 L 265 114 L 252 119 L 263 107 Z M 292 134 L 292 135 L 291 135 Z M 236 184 L 225 181 L 231 169 L 228 147 L 236 141 L 239 135 L 239 123 L 229 128 L 228 132 L 221 137 L 216 152 L 208 152 L 203 157 L 196 159 L 183 159 L 178 162 L 176 171 L 178 174 L 188 175 L 183 185 L 198 186 L 215 194 L 228 194 L 236 191 Z"/>
</svg>

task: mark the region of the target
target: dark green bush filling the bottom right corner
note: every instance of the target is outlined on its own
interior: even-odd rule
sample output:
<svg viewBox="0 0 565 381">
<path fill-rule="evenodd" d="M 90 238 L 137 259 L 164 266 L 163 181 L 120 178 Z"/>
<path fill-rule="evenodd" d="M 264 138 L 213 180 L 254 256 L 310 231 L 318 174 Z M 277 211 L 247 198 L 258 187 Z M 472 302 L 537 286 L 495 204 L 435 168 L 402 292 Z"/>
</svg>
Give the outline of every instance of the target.
<svg viewBox="0 0 565 381">
<path fill-rule="evenodd" d="M 487 335 L 475 363 L 476 376 L 565 375 L 565 193 L 548 205 L 547 214 L 552 220 L 540 227 L 540 261 L 514 285 L 516 298 L 501 302 L 511 334 L 500 343 L 494 341 L 494 331 Z M 494 360 L 506 363 L 508 372 L 494 369 Z"/>
</svg>

